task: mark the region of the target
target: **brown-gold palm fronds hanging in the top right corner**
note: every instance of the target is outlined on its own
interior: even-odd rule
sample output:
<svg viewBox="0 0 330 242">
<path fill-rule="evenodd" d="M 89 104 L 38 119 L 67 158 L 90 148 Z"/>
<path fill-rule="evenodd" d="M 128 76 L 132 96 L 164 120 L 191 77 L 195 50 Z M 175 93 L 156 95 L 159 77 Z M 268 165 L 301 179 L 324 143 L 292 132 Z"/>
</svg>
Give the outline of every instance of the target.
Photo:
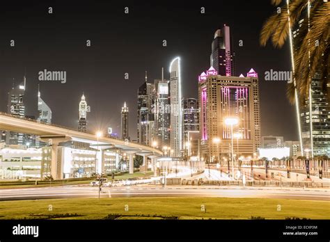
<svg viewBox="0 0 330 242">
<path fill-rule="evenodd" d="M 289 37 L 289 26 L 297 26 L 308 11 L 308 0 L 272 0 L 275 6 L 281 6 L 281 12 L 276 12 L 269 17 L 262 26 L 260 44 L 265 46 L 272 38 L 274 47 L 281 48 Z M 287 95 L 290 102 L 294 103 L 294 89 L 297 88 L 299 100 L 308 99 L 311 86 L 311 76 L 316 72 L 321 74 L 322 89 L 329 91 L 330 83 L 327 78 L 329 72 L 329 35 L 330 35 L 330 2 L 322 0 L 309 0 L 310 17 L 299 26 L 299 35 L 294 41 L 294 83 L 288 84 Z M 289 13 L 288 13 L 289 11 Z M 289 25 L 290 17 L 290 25 Z M 308 28 L 309 22 L 309 28 Z M 309 31 L 308 31 L 309 29 Z M 330 93 L 328 95 L 328 98 Z"/>
</svg>

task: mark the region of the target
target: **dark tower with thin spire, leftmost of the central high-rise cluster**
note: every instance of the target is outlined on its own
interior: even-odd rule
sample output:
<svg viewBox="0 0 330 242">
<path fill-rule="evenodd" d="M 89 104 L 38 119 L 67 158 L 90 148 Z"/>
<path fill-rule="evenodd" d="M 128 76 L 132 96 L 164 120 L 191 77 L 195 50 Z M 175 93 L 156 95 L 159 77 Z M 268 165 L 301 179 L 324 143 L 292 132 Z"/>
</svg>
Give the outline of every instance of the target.
<svg viewBox="0 0 330 242">
<path fill-rule="evenodd" d="M 146 81 L 138 89 L 137 138 L 138 143 L 152 145 L 155 140 L 155 84 Z"/>
</svg>

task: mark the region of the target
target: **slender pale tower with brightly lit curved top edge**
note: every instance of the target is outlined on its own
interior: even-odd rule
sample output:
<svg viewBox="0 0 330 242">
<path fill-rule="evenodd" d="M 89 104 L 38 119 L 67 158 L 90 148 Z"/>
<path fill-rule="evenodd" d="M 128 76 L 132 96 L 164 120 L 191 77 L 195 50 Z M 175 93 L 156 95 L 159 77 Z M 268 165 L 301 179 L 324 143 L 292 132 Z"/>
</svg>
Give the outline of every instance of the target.
<svg viewBox="0 0 330 242">
<path fill-rule="evenodd" d="M 173 59 L 170 65 L 170 103 L 171 103 L 171 135 L 170 147 L 173 156 L 182 156 L 182 99 L 181 99 L 180 57 Z"/>
</svg>

